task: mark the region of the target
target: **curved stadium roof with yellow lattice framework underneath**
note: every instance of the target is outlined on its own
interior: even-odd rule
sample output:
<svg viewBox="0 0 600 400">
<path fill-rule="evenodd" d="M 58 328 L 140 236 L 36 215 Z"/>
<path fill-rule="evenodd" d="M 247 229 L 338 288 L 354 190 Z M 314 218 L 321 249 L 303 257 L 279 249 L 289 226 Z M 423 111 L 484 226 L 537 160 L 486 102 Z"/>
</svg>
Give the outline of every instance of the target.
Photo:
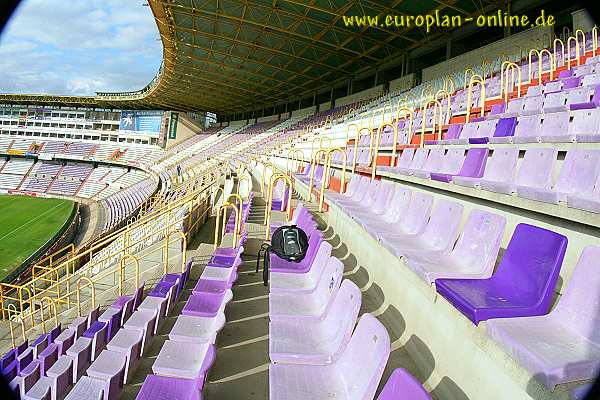
<svg viewBox="0 0 600 400">
<path fill-rule="evenodd" d="M 0 103 L 237 113 L 309 96 L 447 29 L 346 27 L 343 16 L 479 15 L 504 1 L 148 0 L 163 43 L 145 88 L 96 96 L 0 94 Z"/>
</svg>

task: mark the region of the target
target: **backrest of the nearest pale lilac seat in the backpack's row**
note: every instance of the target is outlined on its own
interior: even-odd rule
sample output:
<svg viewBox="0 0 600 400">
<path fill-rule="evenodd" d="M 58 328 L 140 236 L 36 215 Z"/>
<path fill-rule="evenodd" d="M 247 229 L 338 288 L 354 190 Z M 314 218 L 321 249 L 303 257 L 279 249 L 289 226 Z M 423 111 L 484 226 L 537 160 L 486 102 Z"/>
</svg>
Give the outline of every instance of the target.
<svg viewBox="0 0 600 400">
<path fill-rule="evenodd" d="M 347 385 L 349 399 L 372 399 L 390 356 L 387 329 L 373 315 L 363 314 L 341 358 L 334 364 Z"/>
</svg>

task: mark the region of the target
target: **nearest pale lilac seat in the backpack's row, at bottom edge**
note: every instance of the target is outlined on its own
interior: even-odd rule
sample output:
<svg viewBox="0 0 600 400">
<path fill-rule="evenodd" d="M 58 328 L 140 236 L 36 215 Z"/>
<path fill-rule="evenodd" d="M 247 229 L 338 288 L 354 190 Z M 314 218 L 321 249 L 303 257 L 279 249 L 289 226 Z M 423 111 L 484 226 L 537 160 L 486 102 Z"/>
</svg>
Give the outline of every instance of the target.
<svg viewBox="0 0 600 400">
<path fill-rule="evenodd" d="M 372 399 L 390 354 L 385 327 L 364 314 L 341 357 L 328 365 L 272 364 L 269 399 Z"/>
</svg>

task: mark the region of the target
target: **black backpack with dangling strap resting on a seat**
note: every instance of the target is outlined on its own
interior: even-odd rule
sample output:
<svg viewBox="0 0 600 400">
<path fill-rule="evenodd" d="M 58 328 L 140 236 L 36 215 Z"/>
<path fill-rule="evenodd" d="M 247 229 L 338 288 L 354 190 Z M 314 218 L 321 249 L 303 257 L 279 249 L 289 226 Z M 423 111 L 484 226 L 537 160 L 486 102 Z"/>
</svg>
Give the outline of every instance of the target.
<svg viewBox="0 0 600 400">
<path fill-rule="evenodd" d="M 269 281 L 269 253 L 275 254 L 277 257 L 291 262 L 300 262 L 306 257 L 308 250 L 308 237 L 306 232 L 298 228 L 296 225 L 280 226 L 273 232 L 271 236 L 271 244 L 263 243 L 258 250 L 256 258 L 256 273 L 260 267 L 261 254 L 263 255 L 263 282 L 267 286 Z"/>
</svg>

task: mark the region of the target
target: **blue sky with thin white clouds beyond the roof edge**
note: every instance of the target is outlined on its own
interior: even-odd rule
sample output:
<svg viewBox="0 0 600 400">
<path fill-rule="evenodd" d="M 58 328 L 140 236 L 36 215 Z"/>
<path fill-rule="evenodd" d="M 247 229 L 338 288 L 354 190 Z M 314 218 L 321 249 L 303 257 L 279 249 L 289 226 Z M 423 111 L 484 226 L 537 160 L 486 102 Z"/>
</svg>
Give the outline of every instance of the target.
<svg viewBox="0 0 600 400">
<path fill-rule="evenodd" d="M 1 0 L 0 0 L 1 1 Z M 0 37 L 0 92 L 143 88 L 162 45 L 144 0 L 23 0 Z"/>
</svg>

